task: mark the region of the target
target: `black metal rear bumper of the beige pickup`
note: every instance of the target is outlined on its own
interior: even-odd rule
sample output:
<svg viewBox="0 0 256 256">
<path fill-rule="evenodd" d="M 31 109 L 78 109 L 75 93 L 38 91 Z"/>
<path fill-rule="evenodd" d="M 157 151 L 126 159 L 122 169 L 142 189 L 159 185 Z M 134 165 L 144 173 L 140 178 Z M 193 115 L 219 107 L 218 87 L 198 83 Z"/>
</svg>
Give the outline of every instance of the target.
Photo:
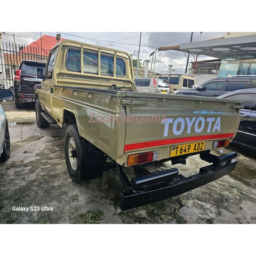
<svg viewBox="0 0 256 256">
<path fill-rule="evenodd" d="M 200 157 L 206 161 L 213 163 L 212 165 L 202 167 L 198 174 L 192 175 L 188 178 L 178 174 L 178 169 L 167 170 L 173 172 L 174 175 L 166 180 L 157 180 L 155 183 L 144 183 L 143 186 L 138 188 L 126 187 L 121 193 L 120 208 L 121 210 L 128 210 L 134 207 L 147 205 L 161 201 L 163 199 L 171 198 L 192 189 L 201 187 L 207 183 L 217 180 L 229 172 L 233 171 L 236 167 L 237 161 L 234 159 L 237 156 L 235 152 L 226 154 L 224 156 L 214 156 L 210 151 L 206 151 Z M 160 177 L 161 174 L 155 175 Z M 162 175 L 163 176 L 163 175 Z M 147 177 L 142 177 L 145 180 Z M 146 179 L 147 180 L 147 179 Z M 152 181 L 153 179 L 148 179 Z M 138 181 L 138 184 L 140 182 Z"/>
</svg>

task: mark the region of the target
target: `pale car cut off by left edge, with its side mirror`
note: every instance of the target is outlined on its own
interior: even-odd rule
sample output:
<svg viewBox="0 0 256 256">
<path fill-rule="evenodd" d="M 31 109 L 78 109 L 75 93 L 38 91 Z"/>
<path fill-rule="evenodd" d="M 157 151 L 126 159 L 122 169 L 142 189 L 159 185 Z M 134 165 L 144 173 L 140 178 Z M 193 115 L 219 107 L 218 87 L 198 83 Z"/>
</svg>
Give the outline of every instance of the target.
<svg viewBox="0 0 256 256">
<path fill-rule="evenodd" d="M 13 100 L 11 90 L 0 90 L 0 101 Z M 0 105 L 0 162 L 6 161 L 10 157 L 11 144 L 8 122 L 3 107 Z"/>
</svg>

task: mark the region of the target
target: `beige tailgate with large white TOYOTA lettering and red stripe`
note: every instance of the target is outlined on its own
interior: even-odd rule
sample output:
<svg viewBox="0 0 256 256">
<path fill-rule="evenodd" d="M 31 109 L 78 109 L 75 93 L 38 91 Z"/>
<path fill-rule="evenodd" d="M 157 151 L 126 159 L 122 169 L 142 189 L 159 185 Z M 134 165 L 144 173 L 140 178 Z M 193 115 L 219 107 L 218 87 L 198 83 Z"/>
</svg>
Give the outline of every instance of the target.
<svg viewBox="0 0 256 256">
<path fill-rule="evenodd" d="M 126 92 L 125 152 L 159 149 L 158 160 L 170 157 L 170 146 L 234 138 L 242 101 L 205 97 Z M 234 108 L 235 107 L 235 108 Z"/>
</svg>

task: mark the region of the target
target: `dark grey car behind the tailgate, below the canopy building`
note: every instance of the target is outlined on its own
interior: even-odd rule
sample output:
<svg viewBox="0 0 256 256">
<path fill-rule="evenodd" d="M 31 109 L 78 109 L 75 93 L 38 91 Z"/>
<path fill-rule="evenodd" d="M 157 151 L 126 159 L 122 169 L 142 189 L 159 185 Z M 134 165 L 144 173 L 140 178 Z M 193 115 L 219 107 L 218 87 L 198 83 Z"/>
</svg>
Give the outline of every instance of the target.
<svg viewBox="0 0 256 256">
<path fill-rule="evenodd" d="M 218 97 L 228 92 L 256 88 L 256 76 L 214 78 L 193 89 L 178 90 L 174 94 Z"/>
</svg>

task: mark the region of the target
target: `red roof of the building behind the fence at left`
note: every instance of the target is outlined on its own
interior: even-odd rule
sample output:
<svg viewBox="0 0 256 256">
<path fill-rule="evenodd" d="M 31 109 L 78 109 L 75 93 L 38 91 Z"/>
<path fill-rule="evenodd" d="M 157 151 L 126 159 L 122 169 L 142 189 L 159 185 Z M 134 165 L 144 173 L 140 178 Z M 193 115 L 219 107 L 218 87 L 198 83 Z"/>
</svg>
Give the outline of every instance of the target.
<svg viewBox="0 0 256 256">
<path fill-rule="evenodd" d="M 43 35 L 42 37 L 42 55 L 48 55 L 50 50 L 57 45 L 56 37 Z M 32 53 L 32 54 L 41 54 L 41 38 L 37 39 L 37 41 L 29 44 L 20 52 L 23 53 Z M 65 40 L 61 38 L 59 42 Z"/>
</svg>

